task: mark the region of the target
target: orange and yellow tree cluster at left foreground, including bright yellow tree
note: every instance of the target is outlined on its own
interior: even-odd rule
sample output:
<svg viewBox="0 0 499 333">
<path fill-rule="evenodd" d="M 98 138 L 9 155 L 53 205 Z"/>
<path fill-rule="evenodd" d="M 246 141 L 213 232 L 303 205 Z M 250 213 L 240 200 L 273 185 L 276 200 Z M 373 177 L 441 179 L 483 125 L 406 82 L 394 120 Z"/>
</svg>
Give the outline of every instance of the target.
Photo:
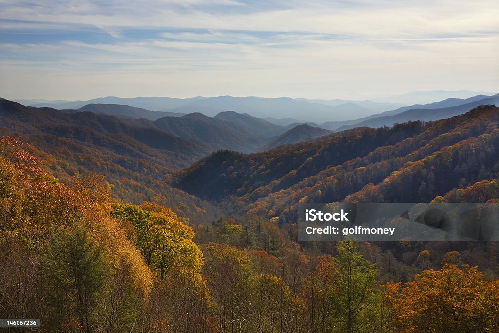
<svg viewBox="0 0 499 333">
<path fill-rule="evenodd" d="M 0 140 L 0 317 L 43 318 L 47 332 L 206 327 L 155 303 L 182 291 L 207 308 L 193 230 L 165 207 L 113 204 L 101 177 L 62 184 L 33 151 Z"/>
</svg>

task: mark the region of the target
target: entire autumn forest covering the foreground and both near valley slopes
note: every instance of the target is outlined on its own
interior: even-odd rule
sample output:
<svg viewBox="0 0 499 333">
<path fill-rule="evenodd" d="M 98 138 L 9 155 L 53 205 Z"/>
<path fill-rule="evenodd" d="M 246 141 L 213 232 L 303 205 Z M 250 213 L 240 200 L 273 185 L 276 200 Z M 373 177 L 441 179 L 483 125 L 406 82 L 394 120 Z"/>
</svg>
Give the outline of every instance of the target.
<svg viewBox="0 0 499 333">
<path fill-rule="evenodd" d="M 188 166 L 206 148 L 149 121 L 0 102 L 0 318 L 25 332 L 499 331 L 497 242 L 296 227 L 299 202 L 497 202 L 495 106 Z"/>
</svg>

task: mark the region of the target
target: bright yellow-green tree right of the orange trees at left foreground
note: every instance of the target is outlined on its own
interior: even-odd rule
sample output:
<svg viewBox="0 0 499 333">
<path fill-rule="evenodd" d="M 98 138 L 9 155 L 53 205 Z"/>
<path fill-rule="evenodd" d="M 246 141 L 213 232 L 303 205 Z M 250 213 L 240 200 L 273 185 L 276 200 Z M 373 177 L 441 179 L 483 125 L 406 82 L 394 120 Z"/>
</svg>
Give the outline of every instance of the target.
<svg viewBox="0 0 499 333">
<path fill-rule="evenodd" d="M 156 275 L 147 305 L 147 326 L 154 332 L 210 332 L 208 288 L 201 276 L 203 253 L 193 229 L 170 208 L 152 203 L 116 203 L 111 216 L 142 252 Z"/>
</svg>

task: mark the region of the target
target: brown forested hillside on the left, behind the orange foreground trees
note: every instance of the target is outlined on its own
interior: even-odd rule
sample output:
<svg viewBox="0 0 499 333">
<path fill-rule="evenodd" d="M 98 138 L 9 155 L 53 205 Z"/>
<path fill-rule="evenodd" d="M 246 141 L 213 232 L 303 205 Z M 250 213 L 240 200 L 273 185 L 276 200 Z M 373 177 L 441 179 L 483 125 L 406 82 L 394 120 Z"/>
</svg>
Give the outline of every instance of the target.
<svg viewBox="0 0 499 333">
<path fill-rule="evenodd" d="M 61 180 L 98 173 L 105 176 L 114 196 L 128 202 L 154 201 L 182 216 L 213 217 L 216 210 L 210 204 L 168 185 L 173 170 L 209 150 L 150 124 L 0 100 L 0 134 L 43 150 L 35 154 L 51 154 L 42 164 Z"/>
</svg>

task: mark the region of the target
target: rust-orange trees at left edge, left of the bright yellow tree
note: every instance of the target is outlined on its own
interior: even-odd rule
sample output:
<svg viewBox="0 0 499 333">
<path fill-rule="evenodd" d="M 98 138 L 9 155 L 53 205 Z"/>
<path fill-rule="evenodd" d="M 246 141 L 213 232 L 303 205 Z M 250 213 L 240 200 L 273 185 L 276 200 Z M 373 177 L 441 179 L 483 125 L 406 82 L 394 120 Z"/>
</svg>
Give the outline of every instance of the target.
<svg viewBox="0 0 499 333">
<path fill-rule="evenodd" d="M 137 327 L 152 274 L 109 216 L 107 184 L 59 183 L 34 153 L 0 138 L 0 317 L 43 318 L 45 331 Z"/>
</svg>

